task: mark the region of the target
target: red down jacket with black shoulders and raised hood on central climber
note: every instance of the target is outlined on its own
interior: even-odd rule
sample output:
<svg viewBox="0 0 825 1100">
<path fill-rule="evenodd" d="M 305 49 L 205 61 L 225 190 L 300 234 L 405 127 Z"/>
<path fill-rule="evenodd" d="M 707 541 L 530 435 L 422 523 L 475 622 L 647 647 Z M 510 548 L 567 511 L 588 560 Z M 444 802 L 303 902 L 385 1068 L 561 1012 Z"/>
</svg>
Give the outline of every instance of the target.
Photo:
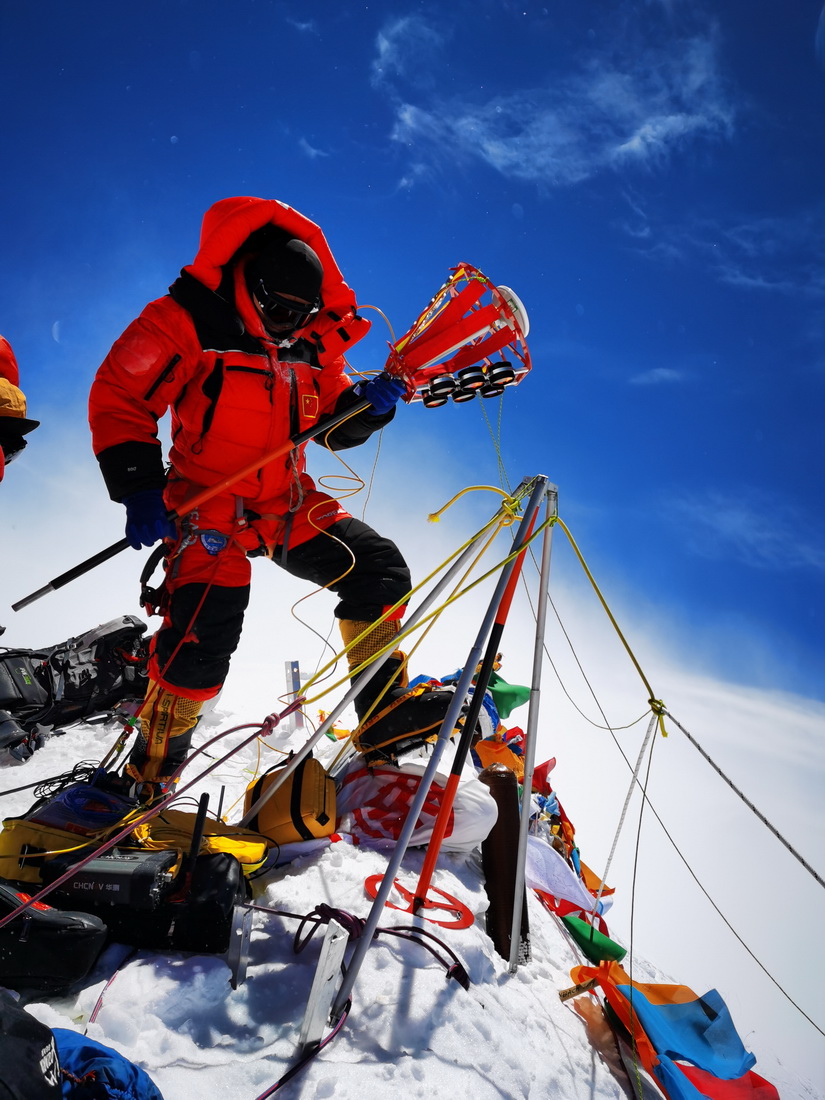
<svg viewBox="0 0 825 1100">
<path fill-rule="evenodd" d="M 288 348 L 268 339 L 243 278 L 271 227 L 305 241 L 323 264 L 323 307 Z M 316 224 L 276 200 L 216 202 L 204 218 L 195 261 L 129 326 L 92 384 L 92 446 L 110 496 L 122 501 L 165 484 L 157 421 L 167 410 L 173 476 L 198 487 L 355 404 L 343 351 L 369 327 Z M 354 447 L 391 419 L 361 413 L 324 441 L 333 450 Z M 312 487 L 301 447 L 230 492 L 244 507 L 284 515 Z"/>
</svg>

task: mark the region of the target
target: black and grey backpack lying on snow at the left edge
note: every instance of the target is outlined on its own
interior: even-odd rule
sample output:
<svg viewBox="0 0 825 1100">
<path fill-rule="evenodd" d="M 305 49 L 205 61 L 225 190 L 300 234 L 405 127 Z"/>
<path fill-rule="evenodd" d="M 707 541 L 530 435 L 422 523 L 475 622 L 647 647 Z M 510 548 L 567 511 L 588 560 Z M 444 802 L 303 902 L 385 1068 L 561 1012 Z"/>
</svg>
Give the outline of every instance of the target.
<svg viewBox="0 0 825 1100">
<path fill-rule="evenodd" d="M 0 754 L 24 761 L 38 745 L 35 727 L 67 726 L 143 698 L 148 642 L 134 615 L 103 623 L 44 649 L 0 651 Z"/>
</svg>

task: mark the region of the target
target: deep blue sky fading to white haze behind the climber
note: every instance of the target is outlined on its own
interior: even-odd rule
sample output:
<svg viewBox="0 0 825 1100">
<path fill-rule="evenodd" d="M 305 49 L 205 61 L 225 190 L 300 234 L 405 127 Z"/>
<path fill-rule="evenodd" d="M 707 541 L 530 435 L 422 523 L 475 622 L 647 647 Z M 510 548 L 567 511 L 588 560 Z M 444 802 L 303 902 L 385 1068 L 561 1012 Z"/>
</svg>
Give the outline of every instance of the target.
<svg viewBox="0 0 825 1100">
<path fill-rule="evenodd" d="M 447 534 L 433 536 L 425 518 L 466 485 L 498 483 L 498 437 L 512 483 L 546 473 L 559 485 L 561 514 L 645 667 L 661 661 L 657 693 L 816 862 L 825 713 L 821 0 L 388 0 L 350 10 L 45 0 L 3 6 L 0 84 L 0 332 L 16 351 L 30 415 L 43 421 L 0 492 L 3 641 L 54 644 L 136 610 L 138 565 L 127 554 L 20 615 L 8 607 L 122 534 L 86 424 L 89 386 L 111 343 L 191 261 L 211 202 L 279 198 L 324 229 L 359 300 L 381 307 L 396 333 L 461 262 L 512 286 L 529 310 L 534 371 L 501 407 L 415 405 L 384 432 L 367 518 L 403 534 L 416 579 L 432 564 L 428 539 L 441 538 L 446 553 L 488 517 L 487 497 L 464 498 L 442 525 Z M 373 332 L 353 365 L 380 370 L 387 333 L 367 316 Z M 351 462 L 370 482 L 373 452 L 363 452 Z M 329 465 L 319 452 L 312 462 Z M 350 506 L 360 514 L 361 501 Z M 305 641 L 285 626 L 283 578 L 263 574 L 256 570 L 261 620 L 248 618 L 231 674 L 238 686 L 228 690 L 249 700 L 254 669 L 261 705 L 272 707 L 255 661 L 272 662 L 275 649 L 278 659 L 295 657 Z M 576 595 L 569 606 L 581 609 L 561 535 L 552 584 L 563 609 L 566 586 Z M 330 610 L 327 602 L 320 631 Z M 601 627 L 588 605 L 578 644 Z M 455 645 L 465 652 L 476 628 L 472 620 L 444 638 L 441 663 L 421 671 L 453 668 Z M 522 635 L 525 660 L 505 672 L 526 682 L 530 628 Z M 594 647 L 609 686 L 615 649 L 601 636 Z M 299 656 L 309 667 L 312 657 Z M 674 659 L 685 680 L 666 674 Z M 644 707 L 644 695 L 623 695 L 610 722 Z M 561 713 L 553 721 L 573 729 Z M 734 891 L 726 912 L 765 921 L 767 964 L 780 980 L 809 981 L 790 937 L 785 955 L 771 958 L 780 949 L 776 913 L 743 905 L 771 850 L 761 833 L 752 843 L 759 827 L 743 825 L 754 862 L 736 851 L 737 882 L 713 837 L 695 828 L 697 787 L 674 768 L 676 744 L 671 736 L 671 791 L 684 788 L 685 833 L 700 862 L 713 865 L 714 888 Z M 579 776 L 594 760 L 608 771 L 604 747 L 584 734 L 558 756 L 560 771 L 565 759 Z M 570 772 L 560 782 L 581 828 L 587 790 Z M 725 805 L 718 820 L 729 826 L 728 791 L 703 790 L 713 792 L 714 812 Z M 662 802 L 675 810 L 674 799 Z M 596 839 L 585 837 L 585 847 Z M 654 888 L 659 873 L 656 864 Z M 689 889 L 676 893 L 684 912 Z M 799 900 L 801 889 L 788 895 L 798 912 L 813 913 L 818 888 Z M 700 985 L 668 957 L 673 937 L 660 901 L 642 949 L 674 980 Z M 744 934 L 761 952 L 755 930 Z M 705 949 L 715 935 L 696 943 Z M 735 950 L 721 947 L 707 976 L 726 997 L 723 970 L 732 958 L 738 965 Z M 812 982 L 799 994 L 809 1011 Z M 780 1012 L 771 996 L 750 998 L 770 1024 Z M 804 1058 L 806 1047 L 809 1074 L 822 1079 L 813 1038 L 815 1048 L 791 1012 L 788 1048 L 798 1043 Z"/>
</svg>

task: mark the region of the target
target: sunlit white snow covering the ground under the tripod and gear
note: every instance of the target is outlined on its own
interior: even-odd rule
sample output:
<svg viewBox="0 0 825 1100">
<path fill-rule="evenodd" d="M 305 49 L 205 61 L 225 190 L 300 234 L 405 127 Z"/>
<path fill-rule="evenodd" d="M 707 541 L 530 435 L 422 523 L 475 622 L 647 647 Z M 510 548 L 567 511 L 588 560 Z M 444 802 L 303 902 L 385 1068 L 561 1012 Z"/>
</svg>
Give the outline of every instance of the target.
<svg viewBox="0 0 825 1100">
<path fill-rule="evenodd" d="M 202 744 L 206 735 L 250 721 L 260 716 L 230 715 L 219 704 L 205 717 L 196 740 Z M 228 749 L 249 733 L 230 734 L 221 746 Z M 33 801 L 30 784 L 59 774 L 77 761 L 100 760 L 114 736 L 111 725 L 78 724 L 50 737 L 24 767 L 4 768 L 0 772 L 4 791 L 18 784 L 29 789 L 3 796 L 3 817 L 28 809 Z M 304 738 L 284 732 L 270 740 L 284 748 Z M 324 739 L 319 750 L 326 754 L 337 748 Z M 262 768 L 274 762 L 267 752 L 263 750 Z M 254 774 L 257 756 L 255 744 L 245 747 L 193 793 L 209 791 L 215 807 L 226 787 L 224 814 L 239 821 L 242 811 L 237 800 Z M 193 765 L 185 781 L 198 770 Z M 563 801 L 563 792 L 559 793 Z M 421 848 L 413 849 L 404 860 L 400 878 L 410 888 L 422 855 Z M 586 851 L 583 856 L 586 859 Z M 332 844 L 258 880 L 255 903 L 300 916 L 323 902 L 366 916 L 370 902 L 364 880 L 382 872 L 386 859 L 386 854 L 364 846 Z M 464 931 L 424 923 L 461 958 L 470 975 L 470 990 L 447 980 L 443 968 L 424 948 L 380 936 L 365 956 L 342 1030 L 282 1094 L 340 1100 L 386 1096 L 432 1100 L 461 1097 L 465 1090 L 474 1100 L 631 1096 L 615 1068 L 609 1038 L 598 1052 L 604 1027 L 595 1000 L 588 994 L 566 1002 L 559 999 L 559 991 L 571 986 L 571 967 L 586 960 L 532 892 L 528 899 L 532 959 L 508 975 L 506 961 L 484 932 L 487 899 L 477 853 L 442 855 L 433 886 L 460 898 L 475 915 L 474 924 Z M 609 922 L 609 913 L 607 917 Z M 387 909 L 381 926 L 410 923 L 409 914 Z M 140 950 L 123 961 L 125 949 L 112 945 L 79 990 L 43 1001 L 30 998 L 28 1007 L 51 1026 L 86 1031 L 116 1047 L 146 1069 L 165 1100 L 206 1096 L 255 1100 L 296 1059 L 322 941 L 319 932 L 305 950 L 294 954 L 297 926 L 297 920 L 255 914 L 246 980 L 235 990 L 222 957 Z M 114 980 L 106 988 L 113 974 Z M 638 957 L 634 977 L 679 980 Z M 745 1028 L 738 1026 L 746 1038 Z M 768 1076 L 759 1064 L 756 1070 Z M 783 1100 L 817 1097 L 791 1070 L 784 1080 L 776 1075 L 771 1079 Z"/>
</svg>

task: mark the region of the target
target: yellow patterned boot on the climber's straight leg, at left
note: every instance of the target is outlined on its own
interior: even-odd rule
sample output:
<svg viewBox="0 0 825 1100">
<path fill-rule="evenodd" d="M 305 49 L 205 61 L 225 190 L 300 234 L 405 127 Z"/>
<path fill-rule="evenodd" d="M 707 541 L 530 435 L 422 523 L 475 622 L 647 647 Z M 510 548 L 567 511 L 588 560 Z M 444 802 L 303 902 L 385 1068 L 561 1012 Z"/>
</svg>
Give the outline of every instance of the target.
<svg viewBox="0 0 825 1100">
<path fill-rule="evenodd" d="M 186 759 L 202 705 L 202 700 L 176 695 L 148 681 L 141 729 L 127 766 L 132 779 L 145 785 L 144 800 L 157 793 Z"/>
</svg>

